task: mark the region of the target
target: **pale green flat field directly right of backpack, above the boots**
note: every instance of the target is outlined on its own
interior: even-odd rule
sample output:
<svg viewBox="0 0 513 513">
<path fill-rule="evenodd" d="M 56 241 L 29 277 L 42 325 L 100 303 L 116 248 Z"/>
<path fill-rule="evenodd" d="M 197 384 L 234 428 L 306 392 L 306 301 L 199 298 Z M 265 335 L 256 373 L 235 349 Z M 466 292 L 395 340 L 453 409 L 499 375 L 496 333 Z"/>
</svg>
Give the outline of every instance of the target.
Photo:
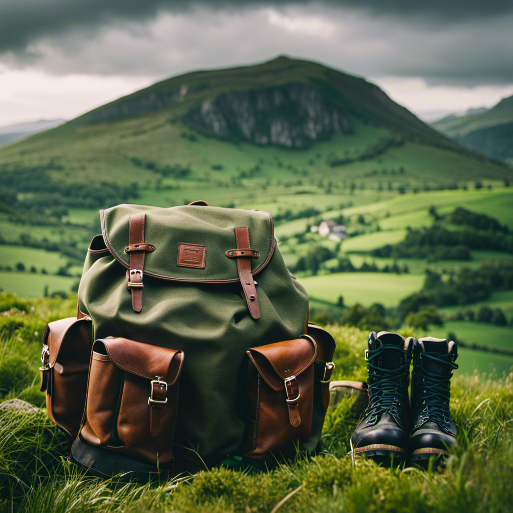
<svg viewBox="0 0 513 513">
<path fill-rule="evenodd" d="M 424 277 L 416 274 L 377 272 L 339 272 L 300 278 L 312 298 L 336 303 L 342 295 L 346 305 L 370 306 L 381 303 L 396 306 L 401 299 L 419 290 Z"/>
</svg>

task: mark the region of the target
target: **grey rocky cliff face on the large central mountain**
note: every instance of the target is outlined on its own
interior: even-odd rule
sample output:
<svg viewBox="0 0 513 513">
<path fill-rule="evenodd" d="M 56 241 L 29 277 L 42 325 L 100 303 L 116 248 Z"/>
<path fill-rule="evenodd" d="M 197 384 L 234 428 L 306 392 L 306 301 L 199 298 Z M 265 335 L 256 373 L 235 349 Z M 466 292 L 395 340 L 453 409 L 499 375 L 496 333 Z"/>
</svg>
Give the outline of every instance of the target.
<svg viewBox="0 0 513 513">
<path fill-rule="evenodd" d="M 194 106 L 186 122 L 201 132 L 260 146 L 304 148 L 353 132 L 348 117 L 303 83 L 228 91 Z"/>
</svg>

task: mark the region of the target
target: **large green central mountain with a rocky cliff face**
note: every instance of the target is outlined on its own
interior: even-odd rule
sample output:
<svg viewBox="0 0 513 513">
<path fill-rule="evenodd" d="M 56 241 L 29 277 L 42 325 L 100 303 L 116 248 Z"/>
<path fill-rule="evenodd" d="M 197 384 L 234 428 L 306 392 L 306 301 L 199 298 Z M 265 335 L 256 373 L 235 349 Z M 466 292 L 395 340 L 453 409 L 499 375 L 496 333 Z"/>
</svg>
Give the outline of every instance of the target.
<svg viewBox="0 0 513 513">
<path fill-rule="evenodd" d="M 507 172 L 363 78 L 278 57 L 176 76 L 0 148 L 0 203 L 93 208 L 138 188 L 305 180 L 413 189 Z"/>
</svg>

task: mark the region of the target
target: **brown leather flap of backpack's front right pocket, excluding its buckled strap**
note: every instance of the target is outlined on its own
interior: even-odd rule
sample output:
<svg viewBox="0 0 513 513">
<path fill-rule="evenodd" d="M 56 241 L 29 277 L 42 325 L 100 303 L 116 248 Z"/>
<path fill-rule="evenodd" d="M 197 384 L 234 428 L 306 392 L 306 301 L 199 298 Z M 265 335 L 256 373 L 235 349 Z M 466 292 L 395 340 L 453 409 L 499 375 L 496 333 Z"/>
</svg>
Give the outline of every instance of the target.
<svg viewBox="0 0 513 513">
<path fill-rule="evenodd" d="M 313 363 L 317 346 L 311 337 L 302 335 L 295 340 L 252 347 L 246 352 L 266 383 L 274 390 L 283 390 L 286 378 L 298 377 Z"/>
</svg>

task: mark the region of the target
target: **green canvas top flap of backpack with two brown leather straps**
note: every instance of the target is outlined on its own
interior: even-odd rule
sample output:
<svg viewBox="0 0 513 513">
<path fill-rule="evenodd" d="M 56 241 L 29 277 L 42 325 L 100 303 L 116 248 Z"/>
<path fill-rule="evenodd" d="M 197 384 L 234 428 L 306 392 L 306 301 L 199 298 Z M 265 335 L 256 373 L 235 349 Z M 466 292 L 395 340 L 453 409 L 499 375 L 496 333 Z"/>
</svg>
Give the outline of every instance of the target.
<svg viewBox="0 0 513 513">
<path fill-rule="evenodd" d="M 240 281 L 251 317 L 260 318 L 253 275 L 274 252 L 269 212 L 118 205 L 101 210 L 100 218 L 105 244 L 128 269 L 134 311 L 143 309 L 147 274 L 189 283 Z"/>
</svg>

